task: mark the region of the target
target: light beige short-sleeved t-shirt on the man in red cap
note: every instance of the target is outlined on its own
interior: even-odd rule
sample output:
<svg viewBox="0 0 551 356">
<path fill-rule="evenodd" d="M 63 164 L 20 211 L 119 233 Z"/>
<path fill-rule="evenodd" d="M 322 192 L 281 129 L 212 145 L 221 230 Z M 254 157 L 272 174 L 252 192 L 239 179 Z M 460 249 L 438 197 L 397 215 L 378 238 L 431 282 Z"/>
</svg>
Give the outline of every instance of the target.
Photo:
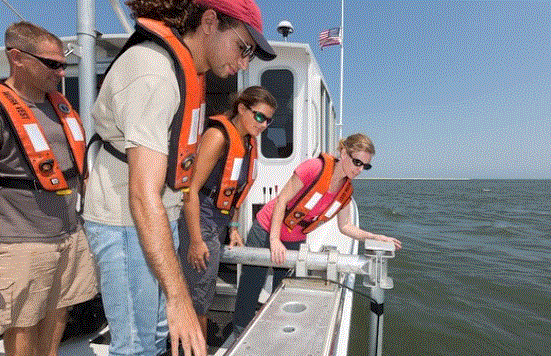
<svg viewBox="0 0 551 356">
<path fill-rule="evenodd" d="M 105 77 L 92 110 L 95 130 L 121 152 L 143 146 L 168 155 L 169 127 L 179 104 L 170 55 L 144 42 L 122 54 Z M 181 192 L 165 187 L 162 199 L 169 221 L 175 221 Z M 90 172 L 83 217 L 106 225 L 134 225 L 128 204 L 128 165 L 104 148 Z"/>
</svg>

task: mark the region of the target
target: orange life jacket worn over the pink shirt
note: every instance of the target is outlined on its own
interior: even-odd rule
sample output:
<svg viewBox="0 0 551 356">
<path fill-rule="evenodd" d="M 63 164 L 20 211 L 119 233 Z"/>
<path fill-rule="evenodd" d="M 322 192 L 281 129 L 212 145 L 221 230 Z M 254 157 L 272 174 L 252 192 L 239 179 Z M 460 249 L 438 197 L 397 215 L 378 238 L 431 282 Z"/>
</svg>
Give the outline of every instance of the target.
<svg viewBox="0 0 551 356">
<path fill-rule="evenodd" d="M 297 224 L 302 226 L 304 234 L 317 228 L 320 224 L 330 220 L 342 208 L 344 208 L 352 198 L 353 187 L 350 179 L 346 178 L 341 189 L 335 195 L 335 200 L 313 221 L 304 221 L 304 217 L 308 215 L 310 210 L 316 206 L 325 193 L 329 190 L 331 177 L 336 163 L 336 158 L 331 155 L 322 153 L 320 158 L 323 161 L 323 168 L 318 177 L 310 184 L 308 189 L 304 191 L 302 196 L 298 198 L 292 205 L 288 204 L 283 222 L 289 229 L 293 229 Z"/>
</svg>

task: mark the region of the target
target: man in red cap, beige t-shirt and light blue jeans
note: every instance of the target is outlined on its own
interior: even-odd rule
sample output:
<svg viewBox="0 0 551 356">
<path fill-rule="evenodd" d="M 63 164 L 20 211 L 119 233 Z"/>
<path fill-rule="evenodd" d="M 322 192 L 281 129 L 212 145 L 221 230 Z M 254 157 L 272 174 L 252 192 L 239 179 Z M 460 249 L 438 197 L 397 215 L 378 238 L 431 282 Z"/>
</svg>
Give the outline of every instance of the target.
<svg viewBox="0 0 551 356">
<path fill-rule="evenodd" d="M 98 262 L 110 355 L 206 355 L 180 268 L 177 219 L 205 115 L 204 74 L 275 58 L 254 0 L 129 0 L 136 32 L 92 114 L 102 141 L 83 217 Z"/>
</svg>

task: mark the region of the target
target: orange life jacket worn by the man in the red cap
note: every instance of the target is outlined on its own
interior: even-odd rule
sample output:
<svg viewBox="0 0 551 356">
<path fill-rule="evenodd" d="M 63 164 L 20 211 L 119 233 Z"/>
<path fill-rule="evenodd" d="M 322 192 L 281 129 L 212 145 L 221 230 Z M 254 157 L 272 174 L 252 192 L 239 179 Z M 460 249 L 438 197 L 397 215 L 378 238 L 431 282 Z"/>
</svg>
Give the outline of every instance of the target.
<svg viewBox="0 0 551 356">
<path fill-rule="evenodd" d="M 197 73 L 191 53 L 177 30 L 157 20 L 137 18 L 136 32 L 124 45 L 119 56 L 131 46 L 145 40 L 151 40 L 163 47 L 174 63 L 180 87 L 180 106 L 170 129 L 166 183 L 172 189 L 187 191 L 193 173 L 197 142 L 205 121 L 205 76 Z M 115 157 L 126 162 L 124 153 L 115 152 L 116 149 L 108 142 L 104 142 L 104 145 Z"/>
</svg>

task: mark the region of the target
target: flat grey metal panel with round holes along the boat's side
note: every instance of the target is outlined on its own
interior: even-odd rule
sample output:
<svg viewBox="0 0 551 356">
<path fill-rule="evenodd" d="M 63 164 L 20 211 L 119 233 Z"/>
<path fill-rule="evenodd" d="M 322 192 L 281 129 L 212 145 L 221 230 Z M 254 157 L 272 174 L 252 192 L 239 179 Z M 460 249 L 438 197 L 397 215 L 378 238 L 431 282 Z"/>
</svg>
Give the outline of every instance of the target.
<svg viewBox="0 0 551 356">
<path fill-rule="evenodd" d="M 227 355 L 329 354 L 341 293 L 321 280 L 284 280 Z"/>
</svg>

